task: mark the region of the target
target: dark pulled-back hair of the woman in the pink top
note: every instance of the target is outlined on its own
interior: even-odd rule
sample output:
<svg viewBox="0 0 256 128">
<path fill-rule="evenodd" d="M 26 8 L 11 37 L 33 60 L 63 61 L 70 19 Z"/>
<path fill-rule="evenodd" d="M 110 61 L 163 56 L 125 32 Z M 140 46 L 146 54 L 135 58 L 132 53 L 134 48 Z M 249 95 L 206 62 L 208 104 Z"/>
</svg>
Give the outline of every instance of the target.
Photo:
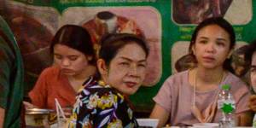
<svg viewBox="0 0 256 128">
<path fill-rule="evenodd" d="M 206 26 L 211 26 L 211 25 L 217 25 L 217 26 L 223 28 L 225 32 L 229 33 L 230 49 L 234 49 L 235 44 L 236 44 L 236 34 L 235 34 L 235 31 L 234 31 L 232 25 L 227 20 L 224 20 L 223 17 L 211 17 L 206 20 L 203 20 L 198 26 L 196 26 L 195 31 L 193 32 L 192 38 L 190 40 L 189 54 L 191 54 L 195 57 L 195 55 L 192 52 L 192 47 L 193 47 L 193 45 L 195 45 L 195 40 L 198 35 L 198 32 L 202 28 L 204 28 Z M 227 69 L 227 70 L 230 70 L 231 72 L 233 72 L 233 69 L 230 66 L 230 59 L 226 59 L 224 61 L 224 69 Z"/>
</svg>

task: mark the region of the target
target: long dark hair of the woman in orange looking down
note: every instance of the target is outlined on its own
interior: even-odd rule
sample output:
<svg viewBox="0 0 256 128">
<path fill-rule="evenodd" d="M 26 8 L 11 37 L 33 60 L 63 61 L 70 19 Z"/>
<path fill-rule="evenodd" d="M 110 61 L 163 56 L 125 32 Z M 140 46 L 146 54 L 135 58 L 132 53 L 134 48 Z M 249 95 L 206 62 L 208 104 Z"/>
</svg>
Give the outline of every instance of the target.
<svg viewBox="0 0 256 128">
<path fill-rule="evenodd" d="M 96 52 L 93 49 L 93 43 L 90 38 L 89 32 L 82 26 L 65 25 L 55 33 L 55 37 L 50 44 L 50 52 L 54 53 L 55 44 L 62 44 L 72 49 L 79 50 L 85 56 L 92 56 L 90 64 L 96 64 Z"/>
</svg>

